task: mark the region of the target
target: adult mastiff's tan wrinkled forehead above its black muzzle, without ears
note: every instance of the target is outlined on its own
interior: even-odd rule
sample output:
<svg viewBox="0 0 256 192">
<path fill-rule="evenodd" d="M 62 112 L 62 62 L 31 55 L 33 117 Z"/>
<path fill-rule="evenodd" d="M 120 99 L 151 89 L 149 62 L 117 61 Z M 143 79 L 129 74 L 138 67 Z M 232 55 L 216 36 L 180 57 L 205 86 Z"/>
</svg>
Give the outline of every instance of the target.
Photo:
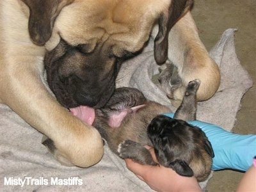
<svg viewBox="0 0 256 192">
<path fill-rule="evenodd" d="M 113 45 L 116 55 L 121 47 L 124 51 L 138 51 L 148 40 L 159 15 L 168 12 L 170 3 L 170 0 L 74 1 L 61 10 L 46 47 L 54 49 L 61 37 L 70 45 L 88 44 L 92 51 L 102 42 Z"/>
</svg>

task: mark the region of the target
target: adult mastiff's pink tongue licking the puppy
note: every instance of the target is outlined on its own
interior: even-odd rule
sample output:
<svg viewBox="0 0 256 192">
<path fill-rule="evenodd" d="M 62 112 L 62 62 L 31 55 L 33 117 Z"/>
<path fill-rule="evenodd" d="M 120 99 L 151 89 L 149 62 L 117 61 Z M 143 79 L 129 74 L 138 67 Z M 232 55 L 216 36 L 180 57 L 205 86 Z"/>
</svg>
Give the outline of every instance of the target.
<svg viewBox="0 0 256 192">
<path fill-rule="evenodd" d="M 95 110 L 88 106 L 78 106 L 77 108 L 70 108 L 71 113 L 86 122 L 87 124 L 92 125 L 95 119 Z"/>
</svg>

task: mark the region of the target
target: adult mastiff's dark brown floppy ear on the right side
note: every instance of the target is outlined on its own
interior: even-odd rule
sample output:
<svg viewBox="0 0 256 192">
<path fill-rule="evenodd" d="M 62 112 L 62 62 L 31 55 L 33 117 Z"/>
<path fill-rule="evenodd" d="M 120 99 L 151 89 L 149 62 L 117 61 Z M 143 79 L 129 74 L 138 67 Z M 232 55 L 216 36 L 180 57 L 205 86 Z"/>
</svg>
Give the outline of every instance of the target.
<svg viewBox="0 0 256 192">
<path fill-rule="evenodd" d="M 161 65 L 167 60 L 170 29 L 193 6 L 193 3 L 193 0 L 172 0 L 168 12 L 162 13 L 159 17 L 159 30 L 154 41 L 154 56 L 157 64 Z"/>
</svg>

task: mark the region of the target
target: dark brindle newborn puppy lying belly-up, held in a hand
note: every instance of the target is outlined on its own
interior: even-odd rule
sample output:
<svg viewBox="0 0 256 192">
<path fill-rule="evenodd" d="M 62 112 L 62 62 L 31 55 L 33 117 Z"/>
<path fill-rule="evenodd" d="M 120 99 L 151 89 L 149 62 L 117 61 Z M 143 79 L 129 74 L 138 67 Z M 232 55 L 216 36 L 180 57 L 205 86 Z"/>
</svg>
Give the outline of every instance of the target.
<svg viewBox="0 0 256 192">
<path fill-rule="evenodd" d="M 196 91 L 200 81 L 189 82 L 182 104 L 174 118 L 161 115 L 170 109 L 145 99 L 134 88 L 118 88 L 106 106 L 97 109 L 93 125 L 122 158 L 156 165 L 143 145 L 154 147 L 157 160 L 180 175 L 207 179 L 214 156 L 211 143 L 198 127 L 184 120 L 195 120 Z"/>
</svg>

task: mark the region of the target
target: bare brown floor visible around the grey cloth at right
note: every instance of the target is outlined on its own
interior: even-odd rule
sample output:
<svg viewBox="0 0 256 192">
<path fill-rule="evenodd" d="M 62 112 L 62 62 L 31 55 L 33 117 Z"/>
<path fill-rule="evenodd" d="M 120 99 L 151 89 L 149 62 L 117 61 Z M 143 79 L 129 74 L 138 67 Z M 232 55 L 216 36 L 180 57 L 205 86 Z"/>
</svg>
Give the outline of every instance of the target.
<svg viewBox="0 0 256 192">
<path fill-rule="evenodd" d="M 256 0 L 195 0 L 192 14 L 207 50 L 218 42 L 227 28 L 236 28 L 236 53 L 253 79 L 244 95 L 233 132 L 256 134 Z M 256 148 L 255 148 L 256 151 Z M 243 173 L 214 172 L 207 191 L 235 191 Z"/>
</svg>

